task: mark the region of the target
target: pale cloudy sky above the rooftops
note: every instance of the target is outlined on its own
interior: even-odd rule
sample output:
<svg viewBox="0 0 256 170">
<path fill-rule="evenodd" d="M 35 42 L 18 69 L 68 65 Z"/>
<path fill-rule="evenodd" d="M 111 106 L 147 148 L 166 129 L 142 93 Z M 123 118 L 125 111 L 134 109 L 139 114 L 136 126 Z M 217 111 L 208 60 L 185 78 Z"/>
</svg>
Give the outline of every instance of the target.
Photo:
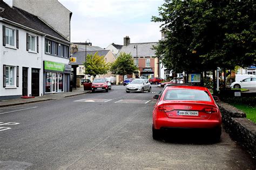
<svg viewBox="0 0 256 170">
<path fill-rule="evenodd" d="M 151 22 L 158 16 L 164 0 L 58 0 L 73 14 L 71 42 L 92 42 L 93 46 L 156 42 L 161 39 L 160 24 Z"/>
</svg>

